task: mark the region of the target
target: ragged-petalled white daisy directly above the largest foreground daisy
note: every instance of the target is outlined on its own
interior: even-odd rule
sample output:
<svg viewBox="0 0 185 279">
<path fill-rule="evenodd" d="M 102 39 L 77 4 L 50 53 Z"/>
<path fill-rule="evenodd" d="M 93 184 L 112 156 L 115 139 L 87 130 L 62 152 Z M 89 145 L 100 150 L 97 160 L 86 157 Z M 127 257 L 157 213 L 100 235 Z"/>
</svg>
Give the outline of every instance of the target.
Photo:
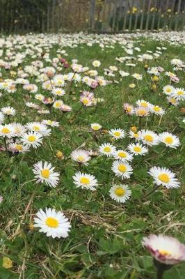
<svg viewBox="0 0 185 279">
<path fill-rule="evenodd" d="M 50 163 L 43 163 L 42 161 L 35 163 L 33 165 L 33 173 L 35 174 L 35 179 L 37 183 L 46 183 L 50 187 L 56 187 L 58 184 L 59 178 L 58 172 L 54 172 L 54 167 Z"/>
</svg>

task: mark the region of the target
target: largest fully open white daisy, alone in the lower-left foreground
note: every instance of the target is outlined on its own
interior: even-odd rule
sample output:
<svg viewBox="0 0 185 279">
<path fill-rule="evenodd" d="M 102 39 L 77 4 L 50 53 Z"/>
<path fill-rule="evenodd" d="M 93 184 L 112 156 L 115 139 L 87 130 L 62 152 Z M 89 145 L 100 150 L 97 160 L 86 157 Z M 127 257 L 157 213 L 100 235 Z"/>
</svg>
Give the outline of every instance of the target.
<svg viewBox="0 0 185 279">
<path fill-rule="evenodd" d="M 39 227 L 39 232 L 44 232 L 47 236 L 53 239 L 65 238 L 70 231 L 70 222 L 62 211 L 55 211 L 55 209 L 40 209 L 34 218 L 34 227 Z"/>
</svg>

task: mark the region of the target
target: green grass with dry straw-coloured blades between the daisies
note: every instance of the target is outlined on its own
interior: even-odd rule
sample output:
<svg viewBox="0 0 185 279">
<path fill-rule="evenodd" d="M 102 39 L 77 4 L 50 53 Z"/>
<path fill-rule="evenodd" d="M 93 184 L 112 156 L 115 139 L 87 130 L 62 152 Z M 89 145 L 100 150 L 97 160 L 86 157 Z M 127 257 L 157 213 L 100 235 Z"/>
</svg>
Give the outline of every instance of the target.
<svg viewBox="0 0 185 279">
<path fill-rule="evenodd" d="M 162 66 L 167 71 L 172 71 L 170 59 L 184 59 L 184 47 L 172 46 L 168 43 L 159 43 L 152 40 L 136 40 L 134 46 L 141 47 L 141 53 L 147 50 L 156 50 L 156 46 L 166 46 L 167 50 L 156 60 L 149 61 L 149 66 Z M 56 57 L 58 45 L 50 51 L 51 58 Z M 94 59 L 101 61 L 102 66 L 98 68 L 99 74 L 104 75 L 104 68 L 118 66 L 119 70 L 128 71 L 129 68 L 115 60 L 116 56 L 127 56 L 118 44 L 114 49 L 107 48 L 104 51 L 98 45 L 88 47 L 79 45 L 77 48 L 65 47 L 67 61 L 78 59 L 83 66 L 91 66 Z M 136 52 L 136 54 L 139 54 Z M 27 56 L 22 63 L 22 68 L 33 61 Z M 24 156 L 13 156 L 8 158 L 5 152 L 1 152 L 1 195 L 3 202 L 0 205 L 1 214 L 1 257 L 10 257 L 13 261 L 12 269 L 0 268 L 1 279 L 25 278 L 106 278 L 106 279 L 154 279 L 156 271 L 152 264 L 152 257 L 141 245 L 143 236 L 150 233 L 170 234 L 184 241 L 185 218 L 184 218 L 184 188 L 178 190 L 159 191 L 143 200 L 143 195 L 152 190 L 152 179 L 147 174 L 151 166 L 159 165 L 168 167 L 177 174 L 179 181 L 184 178 L 183 158 L 183 133 L 182 112 L 179 107 L 168 107 L 166 96 L 162 88 L 169 83 L 168 77 L 162 74 L 157 83 L 157 90 L 151 91 L 150 75 L 145 74 L 143 63 L 137 63 L 136 68 L 131 68 L 131 73 L 143 73 L 143 80 L 138 81 L 136 89 L 129 89 L 129 84 L 134 82 L 133 77 L 122 78 L 118 84 L 113 83 L 105 87 L 95 89 L 95 95 L 104 98 L 103 103 L 97 107 L 82 109 L 73 123 L 70 119 L 81 107 L 79 103 L 80 90 L 88 87 L 79 84 L 73 85 L 69 100 L 63 99 L 67 105 L 72 106 L 73 111 L 61 114 L 52 110 L 51 115 L 40 115 L 35 110 L 25 107 L 24 100 L 35 102 L 33 95 L 28 94 L 19 86 L 14 94 L 3 93 L 1 107 L 11 105 L 17 110 L 16 116 L 11 121 L 25 124 L 30 121 L 42 121 L 51 119 L 60 122 L 61 127 L 53 128 L 50 137 L 46 137 L 42 146 L 32 149 Z M 47 66 L 47 63 L 45 63 Z M 15 69 L 16 70 L 16 69 Z M 3 78 L 10 77 L 9 71 L 2 70 Z M 182 71 L 179 72 L 180 83 L 177 87 L 184 87 Z M 117 73 L 115 80 L 120 80 Z M 35 82 L 35 78 L 29 78 Z M 38 93 L 48 96 L 38 84 Z M 26 96 L 29 95 L 29 96 Z M 77 100 L 72 100 L 72 97 Z M 74 149 L 83 145 L 84 149 L 97 149 L 104 142 L 111 142 L 106 134 L 98 134 L 98 142 L 95 141 L 93 133 L 90 133 L 90 123 L 100 123 L 104 129 L 122 128 L 128 131 L 131 126 L 138 126 L 136 116 L 122 116 L 116 118 L 122 112 L 123 103 L 135 104 L 136 100 L 143 98 L 150 103 L 160 105 L 166 110 L 161 125 L 159 116 L 146 123 L 142 121 L 142 128 L 150 128 L 157 133 L 168 131 L 177 135 L 182 143 L 178 149 L 164 149 L 159 145 L 150 148 L 150 152 L 142 158 L 134 158 L 131 165 L 134 174 L 127 183 L 132 191 L 131 199 L 125 204 L 118 204 L 109 197 L 110 189 L 115 179 L 111 171 L 113 159 L 97 156 L 90 160 L 88 166 L 83 166 L 83 172 L 96 176 L 99 186 L 97 191 L 91 193 L 88 190 L 77 189 L 72 180 L 72 175 L 78 170 L 78 165 L 69 158 Z M 37 101 L 36 101 L 37 102 Z M 115 119 L 113 121 L 113 119 Z M 126 148 L 131 142 L 129 137 L 114 142 L 116 147 Z M 3 144 L 3 140 L 1 140 Z M 61 150 L 65 155 L 64 160 L 56 158 L 56 151 Z M 163 152 L 161 152 L 163 151 Z M 56 167 L 60 173 L 60 183 L 56 188 L 49 188 L 43 184 L 34 184 L 32 168 L 33 163 L 39 160 L 47 160 Z M 20 220 L 24 216 L 27 204 L 35 192 L 33 202 L 19 229 L 15 231 Z M 56 210 L 64 211 L 71 220 L 72 229 L 67 239 L 51 239 L 38 229 L 31 230 L 29 225 L 33 222 L 38 209 L 54 207 Z M 20 272 L 22 266 L 26 269 Z M 0 262 L 2 266 L 2 258 Z M 166 272 L 165 279 L 183 279 L 185 266 L 175 266 Z M 19 277 L 20 276 L 20 277 Z"/>
</svg>

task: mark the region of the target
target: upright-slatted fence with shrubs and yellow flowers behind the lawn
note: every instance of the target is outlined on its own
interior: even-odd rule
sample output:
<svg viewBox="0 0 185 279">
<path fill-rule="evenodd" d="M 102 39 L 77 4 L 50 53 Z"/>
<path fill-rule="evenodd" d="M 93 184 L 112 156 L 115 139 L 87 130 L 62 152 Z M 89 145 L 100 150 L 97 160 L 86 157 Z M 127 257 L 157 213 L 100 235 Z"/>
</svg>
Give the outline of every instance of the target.
<svg viewBox="0 0 185 279">
<path fill-rule="evenodd" d="M 0 31 L 177 31 L 184 10 L 185 0 L 0 0 Z"/>
</svg>

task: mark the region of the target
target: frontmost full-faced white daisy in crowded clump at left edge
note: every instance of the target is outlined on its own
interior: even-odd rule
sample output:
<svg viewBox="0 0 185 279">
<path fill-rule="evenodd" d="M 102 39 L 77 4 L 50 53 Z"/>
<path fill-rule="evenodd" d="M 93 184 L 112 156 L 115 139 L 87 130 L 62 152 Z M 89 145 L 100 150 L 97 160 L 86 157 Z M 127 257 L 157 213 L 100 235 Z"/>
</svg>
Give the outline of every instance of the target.
<svg viewBox="0 0 185 279">
<path fill-rule="evenodd" d="M 24 145 L 37 149 L 42 144 L 42 135 L 37 132 L 24 133 L 20 139 Z"/>
</svg>

